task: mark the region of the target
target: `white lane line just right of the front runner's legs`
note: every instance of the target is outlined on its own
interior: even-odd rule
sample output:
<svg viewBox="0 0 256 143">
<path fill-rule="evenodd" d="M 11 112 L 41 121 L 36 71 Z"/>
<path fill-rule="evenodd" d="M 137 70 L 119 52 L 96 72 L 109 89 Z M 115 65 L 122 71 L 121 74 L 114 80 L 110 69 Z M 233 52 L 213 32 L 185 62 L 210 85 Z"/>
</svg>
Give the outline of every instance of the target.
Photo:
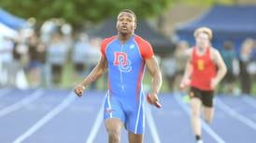
<svg viewBox="0 0 256 143">
<path fill-rule="evenodd" d="M 150 130 L 151 136 L 153 138 L 153 142 L 161 143 L 160 137 L 157 132 L 157 127 L 155 125 L 154 118 L 152 115 L 152 110 L 150 109 L 149 106 L 147 106 L 147 107 L 148 108 L 146 109 L 146 120 L 147 120 L 147 123 L 149 124 L 149 130 Z"/>
</svg>

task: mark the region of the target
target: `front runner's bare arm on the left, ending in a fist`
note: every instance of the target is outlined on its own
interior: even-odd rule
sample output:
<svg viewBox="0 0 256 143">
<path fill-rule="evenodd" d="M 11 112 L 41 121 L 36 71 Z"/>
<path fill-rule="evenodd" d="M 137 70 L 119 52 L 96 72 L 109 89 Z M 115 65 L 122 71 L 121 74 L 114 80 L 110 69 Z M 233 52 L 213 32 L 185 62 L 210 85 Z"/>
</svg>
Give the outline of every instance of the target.
<svg viewBox="0 0 256 143">
<path fill-rule="evenodd" d="M 91 73 L 80 83 L 75 87 L 75 93 L 80 97 L 83 94 L 83 90 L 91 84 L 93 81 L 95 81 L 97 78 L 99 78 L 102 74 L 107 71 L 107 58 L 104 56 L 101 56 L 100 60 L 98 61 L 97 65 L 93 68 Z"/>
</svg>

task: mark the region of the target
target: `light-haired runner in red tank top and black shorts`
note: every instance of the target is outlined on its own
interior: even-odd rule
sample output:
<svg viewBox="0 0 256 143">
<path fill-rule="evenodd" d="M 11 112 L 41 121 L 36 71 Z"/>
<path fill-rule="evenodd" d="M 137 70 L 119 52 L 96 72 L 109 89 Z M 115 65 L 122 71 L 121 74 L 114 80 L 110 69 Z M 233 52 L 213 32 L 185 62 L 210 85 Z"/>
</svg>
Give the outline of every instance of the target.
<svg viewBox="0 0 256 143">
<path fill-rule="evenodd" d="M 189 61 L 180 83 L 180 88 L 190 85 L 190 97 L 192 107 L 192 130 L 198 143 L 201 138 L 201 107 L 204 107 L 206 123 L 213 118 L 213 95 L 216 86 L 227 72 L 227 68 L 220 53 L 211 46 L 212 31 L 201 27 L 193 33 L 196 45 L 188 49 L 186 54 Z"/>
</svg>

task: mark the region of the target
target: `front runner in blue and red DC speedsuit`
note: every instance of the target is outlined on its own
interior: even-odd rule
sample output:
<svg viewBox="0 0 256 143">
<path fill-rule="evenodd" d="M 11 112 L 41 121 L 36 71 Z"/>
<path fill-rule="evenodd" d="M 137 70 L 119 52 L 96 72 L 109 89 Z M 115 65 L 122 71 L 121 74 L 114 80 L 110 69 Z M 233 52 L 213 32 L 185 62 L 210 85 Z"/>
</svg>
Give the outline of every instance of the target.
<svg viewBox="0 0 256 143">
<path fill-rule="evenodd" d="M 142 79 L 145 65 L 152 76 L 148 101 L 157 107 L 162 73 L 149 42 L 135 34 L 136 17 L 132 10 L 121 10 L 116 27 L 118 34 L 103 40 L 100 61 L 75 87 L 75 92 L 81 96 L 92 81 L 108 71 L 109 85 L 104 112 L 108 142 L 121 142 L 121 128 L 124 126 L 130 143 L 142 143 L 145 126 Z"/>
</svg>

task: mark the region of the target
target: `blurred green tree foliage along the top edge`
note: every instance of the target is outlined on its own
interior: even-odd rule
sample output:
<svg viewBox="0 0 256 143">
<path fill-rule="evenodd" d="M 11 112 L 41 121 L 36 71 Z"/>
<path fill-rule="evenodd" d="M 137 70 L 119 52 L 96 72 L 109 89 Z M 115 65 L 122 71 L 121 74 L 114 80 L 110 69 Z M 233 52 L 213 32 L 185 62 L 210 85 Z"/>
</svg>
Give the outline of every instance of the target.
<svg viewBox="0 0 256 143">
<path fill-rule="evenodd" d="M 0 6 L 22 18 L 34 17 L 41 23 L 63 18 L 72 24 L 97 22 L 116 16 L 123 8 L 135 11 L 137 17 L 161 14 L 170 0 L 0 0 Z"/>
</svg>

